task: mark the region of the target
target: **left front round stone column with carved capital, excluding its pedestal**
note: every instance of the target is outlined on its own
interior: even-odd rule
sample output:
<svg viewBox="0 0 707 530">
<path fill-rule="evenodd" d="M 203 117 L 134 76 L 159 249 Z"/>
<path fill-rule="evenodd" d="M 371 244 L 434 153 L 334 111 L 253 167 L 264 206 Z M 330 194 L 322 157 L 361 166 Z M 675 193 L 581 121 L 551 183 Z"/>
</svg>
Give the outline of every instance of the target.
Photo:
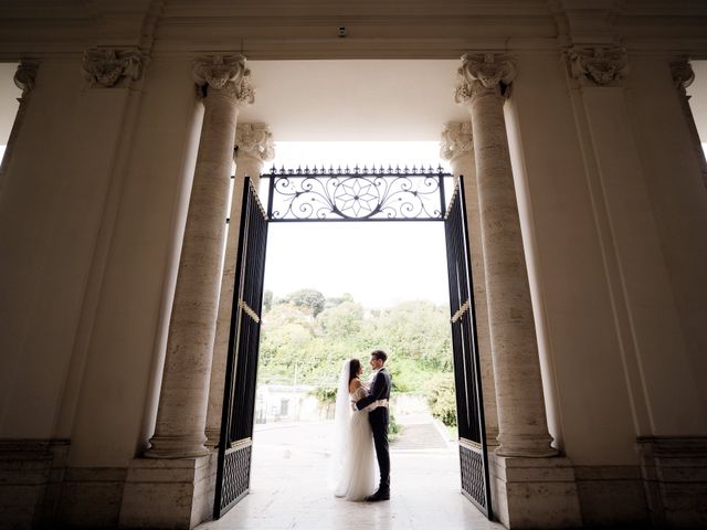
<svg viewBox="0 0 707 530">
<path fill-rule="evenodd" d="M 243 56 L 210 56 L 194 64 L 204 116 L 172 305 L 154 458 L 194 457 L 204 447 L 211 357 L 225 243 L 235 124 L 253 102 Z"/>
</svg>

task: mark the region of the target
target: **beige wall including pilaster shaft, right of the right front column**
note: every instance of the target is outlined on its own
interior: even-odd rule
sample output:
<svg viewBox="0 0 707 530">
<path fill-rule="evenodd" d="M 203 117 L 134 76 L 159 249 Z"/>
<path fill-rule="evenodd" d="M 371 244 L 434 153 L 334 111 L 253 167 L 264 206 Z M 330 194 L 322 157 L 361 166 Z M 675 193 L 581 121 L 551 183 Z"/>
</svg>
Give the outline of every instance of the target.
<svg viewBox="0 0 707 530">
<path fill-rule="evenodd" d="M 707 192 L 666 57 L 581 93 L 558 59 L 519 55 L 506 106 L 550 430 L 635 464 L 639 435 L 707 428 Z"/>
</svg>

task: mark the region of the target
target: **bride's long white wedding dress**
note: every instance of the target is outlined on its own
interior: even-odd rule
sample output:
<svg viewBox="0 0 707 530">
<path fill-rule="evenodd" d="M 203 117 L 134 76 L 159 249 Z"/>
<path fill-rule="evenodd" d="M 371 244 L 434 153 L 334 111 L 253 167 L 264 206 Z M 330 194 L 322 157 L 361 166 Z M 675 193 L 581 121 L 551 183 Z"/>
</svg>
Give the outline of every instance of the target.
<svg viewBox="0 0 707 530">
<path fill-rule="evenodd" d="M 337 469 L 334 495 L 346 500 L 363 500 L 376 491 L 376 455 L 371 425 L 368 422 L 368 410 L 373 405 L 357 412 L 350 406 L 350 402 L 367 395 L 368 390 L 362 385 L 348 394 L 348 417 L 342 432 L 337 433 L 339 447 L 335 451 Z"/>
</svg>

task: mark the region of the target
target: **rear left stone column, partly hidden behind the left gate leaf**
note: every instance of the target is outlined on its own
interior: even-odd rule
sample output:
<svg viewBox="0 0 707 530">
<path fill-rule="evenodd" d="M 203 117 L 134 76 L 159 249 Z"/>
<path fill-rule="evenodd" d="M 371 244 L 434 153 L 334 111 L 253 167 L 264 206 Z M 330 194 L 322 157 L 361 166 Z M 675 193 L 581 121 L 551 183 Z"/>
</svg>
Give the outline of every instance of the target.
<svg viewBox="0 0 707 530">
<path fill-rule="evenodd" d="M 238 258 L 241 208 L 243 205 L 243 184 L 245 177 L 253 180 L 257 189 L 260 176 L 266 161 L 275 158 L 273 135 L 264 124 L 239 124 L 235 130 L 235 179 L 231 194 L 231 214 L 226 227 L 225 258 L 221 276 L 221 296 L 219 317 L 213 343 L 213 363 L 209 390 L 209 411 L 207 414 L 207 442 L 210 446 L 219 443 L 221 433 L 221 410 L 223 386 L 225 383 L 225 363 L 231 331 L 231 309 L 233 307 L 233 286 L 235 282 L 235 262 Z"/>
</svg>

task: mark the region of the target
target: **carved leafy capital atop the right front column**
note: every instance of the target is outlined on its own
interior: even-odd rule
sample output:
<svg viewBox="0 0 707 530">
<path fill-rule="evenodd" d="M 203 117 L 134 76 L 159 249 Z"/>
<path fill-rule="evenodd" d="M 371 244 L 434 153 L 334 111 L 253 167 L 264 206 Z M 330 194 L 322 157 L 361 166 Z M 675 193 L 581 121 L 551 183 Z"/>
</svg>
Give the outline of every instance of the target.
<svg viewBox="0 0 707 530">
<path fill-rule="evenodd" d="M 478 93 L 496 93 L 508 97 L 510 83 L 516 78 L 516 61 L 500 53 L 464 54 L 457 70 L 460 84 L 454 100 L 466 105 Z"/>
</svg>

